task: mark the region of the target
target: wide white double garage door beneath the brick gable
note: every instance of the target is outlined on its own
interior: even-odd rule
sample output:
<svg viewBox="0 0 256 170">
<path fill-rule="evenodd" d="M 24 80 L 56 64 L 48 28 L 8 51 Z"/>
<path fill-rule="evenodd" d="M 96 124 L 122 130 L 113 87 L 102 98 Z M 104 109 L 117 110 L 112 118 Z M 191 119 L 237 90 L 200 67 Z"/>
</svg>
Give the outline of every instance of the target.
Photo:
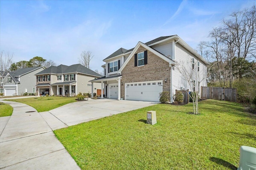
<svg viewBox="0 0 256 170">
<path fill-rule="evenodd" d="M 159 102 L 163 81 L 125 83 L 126 100 Z"/>
</svg>

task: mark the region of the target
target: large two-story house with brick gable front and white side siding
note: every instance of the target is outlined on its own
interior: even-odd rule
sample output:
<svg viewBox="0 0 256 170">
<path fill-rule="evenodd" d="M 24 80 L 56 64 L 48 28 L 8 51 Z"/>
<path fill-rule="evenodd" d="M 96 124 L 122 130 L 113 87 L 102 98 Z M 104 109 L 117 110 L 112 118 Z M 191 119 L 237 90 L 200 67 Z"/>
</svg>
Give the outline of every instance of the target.
<svg viewBox="0 0 256 170">
<path fill-rule="evenodd" d="M 207 86 L 209 63 L 178 35 L 139 41 L 133 49 L 120 48 L 103 61 L 105 76 L 90 82 L 100 82 L 107 98 L 159 102 L 159 94 L 168 91 L 173 102 L 175 90 L 200 91 L 201 86 Z M 183 68 L 188 72 L 193 69 L 195 83 L 202 80 L 198 88 L 190 89 Z"/>
</svg>

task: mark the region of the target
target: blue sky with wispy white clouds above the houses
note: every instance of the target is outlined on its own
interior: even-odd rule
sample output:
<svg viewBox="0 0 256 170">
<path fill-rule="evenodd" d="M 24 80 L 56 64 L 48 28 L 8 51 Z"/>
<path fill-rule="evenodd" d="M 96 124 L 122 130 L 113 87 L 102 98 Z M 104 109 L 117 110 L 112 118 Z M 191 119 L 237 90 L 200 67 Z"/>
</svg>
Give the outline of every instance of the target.
<svg viewBox="0 0 256 170">
<path fill-rule="evenodd" d="M 250 8 L 255 0 L 212 1 L 0 1 L 0 50 L 14 62 L 40 56 L 77 64 L 92 51 L 92 70 L 123 47 L 160 36 L 178 35 L 192 48 L 207 41 L 223 18 Z"/>
</svg>

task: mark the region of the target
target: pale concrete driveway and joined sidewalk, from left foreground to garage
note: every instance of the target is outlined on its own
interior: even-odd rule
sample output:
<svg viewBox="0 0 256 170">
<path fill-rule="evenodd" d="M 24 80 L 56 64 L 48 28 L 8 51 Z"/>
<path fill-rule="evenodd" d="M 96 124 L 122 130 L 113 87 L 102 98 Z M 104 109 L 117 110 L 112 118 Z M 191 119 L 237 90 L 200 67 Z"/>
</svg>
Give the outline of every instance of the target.
<svg viewBox="0 0 256 170">
<path fill-rule="evenodd" d="M 26 104 L 1 102 L 14 108 L 12 116 L 0 117 L 0 169 L 3 170 L 80 169 L 53 130 L 156 104 L 89 99 L 38 113 Z"/>
</svg>

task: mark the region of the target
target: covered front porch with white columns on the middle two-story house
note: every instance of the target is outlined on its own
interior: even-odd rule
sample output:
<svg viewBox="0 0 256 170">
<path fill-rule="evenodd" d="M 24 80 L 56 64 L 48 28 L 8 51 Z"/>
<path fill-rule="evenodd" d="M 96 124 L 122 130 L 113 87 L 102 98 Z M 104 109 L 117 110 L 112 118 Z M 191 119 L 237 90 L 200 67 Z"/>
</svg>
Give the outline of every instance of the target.
<svg viewBox="0 0 256 170">
<path fill-rule="evenodd" d="M 76 81 L 59 82 L 52 84 L 52 91 L 57 96 L 75 96 L 77 95 Z"/>
</svg>

